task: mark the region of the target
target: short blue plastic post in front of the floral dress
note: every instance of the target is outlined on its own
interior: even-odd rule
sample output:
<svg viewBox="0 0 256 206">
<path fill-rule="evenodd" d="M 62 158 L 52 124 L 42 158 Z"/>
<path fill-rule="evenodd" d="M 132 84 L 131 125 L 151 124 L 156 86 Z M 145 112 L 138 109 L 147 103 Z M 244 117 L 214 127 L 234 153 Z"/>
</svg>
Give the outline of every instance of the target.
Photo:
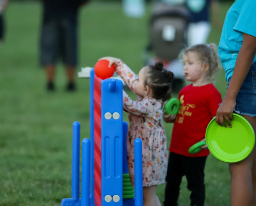
<svg viewBox="0 0 256 206">
<path fill-rule="evenodd" d="M 134 163 L 135 163 L 135 206 L 143 205 L 143 182 L 142 182 L 142 141 L 137 138 L 134 141 Z"/>
</svg>

